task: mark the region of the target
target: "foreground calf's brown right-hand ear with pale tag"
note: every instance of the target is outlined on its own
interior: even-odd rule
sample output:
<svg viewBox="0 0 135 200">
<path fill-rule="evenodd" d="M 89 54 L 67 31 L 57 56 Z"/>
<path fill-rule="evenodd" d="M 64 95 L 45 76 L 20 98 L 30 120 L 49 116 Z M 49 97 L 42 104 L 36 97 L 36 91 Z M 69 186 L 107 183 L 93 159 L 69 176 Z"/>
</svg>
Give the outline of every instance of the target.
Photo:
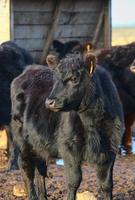
<svg viewBox="0 0 135 200">
<path fill-rule="evenodd" d="M 84 62 L 86 63 L 87 70 L 90 75 L 92 75 L 96 68 L 96 55 L 93 52 L 88 52 L 84 54 Z"/>
</svg>

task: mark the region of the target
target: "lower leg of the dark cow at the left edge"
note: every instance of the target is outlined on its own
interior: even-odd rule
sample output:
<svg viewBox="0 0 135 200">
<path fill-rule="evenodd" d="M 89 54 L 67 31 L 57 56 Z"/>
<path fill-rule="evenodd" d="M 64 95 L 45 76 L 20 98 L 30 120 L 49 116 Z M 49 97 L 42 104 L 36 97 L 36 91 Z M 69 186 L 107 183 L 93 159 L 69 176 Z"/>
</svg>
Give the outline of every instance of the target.
<svg viewBox="0 0 135 200">
<path fill-rule="evenodd" d="M 8 170 L 16 170 L 18 169 L 19 149 L 13 141 L 11 127 L 6 126 L 5 129 L 7 133 Z"/>
</svg>

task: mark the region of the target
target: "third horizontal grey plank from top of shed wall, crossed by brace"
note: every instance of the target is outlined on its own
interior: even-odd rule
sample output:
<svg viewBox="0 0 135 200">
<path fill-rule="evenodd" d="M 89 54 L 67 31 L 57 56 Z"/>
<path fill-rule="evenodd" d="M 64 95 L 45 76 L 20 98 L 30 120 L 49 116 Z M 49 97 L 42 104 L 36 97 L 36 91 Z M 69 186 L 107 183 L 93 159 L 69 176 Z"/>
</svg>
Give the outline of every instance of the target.
<svg viewBox="0 0 135 200">
<path fill-rule="evenodd" d="M 60 25 L 55 33 L 55 38 L 60 37 L 89 37 L 93 36 L 93 31 L 95 29 L 94 24 L 89 26 L 84 25 Z M 18 25 L 15 26 L 14 38 L 43 38 L 47 37 L 48 26 L 44 25 Z"/>
</svg>

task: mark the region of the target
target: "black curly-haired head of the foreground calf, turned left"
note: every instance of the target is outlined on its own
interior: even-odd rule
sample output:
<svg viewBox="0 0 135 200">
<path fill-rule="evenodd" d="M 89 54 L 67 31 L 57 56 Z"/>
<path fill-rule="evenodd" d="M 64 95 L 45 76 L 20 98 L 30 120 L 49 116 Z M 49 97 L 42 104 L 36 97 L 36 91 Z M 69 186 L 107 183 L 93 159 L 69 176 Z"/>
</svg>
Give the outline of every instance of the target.
<svg viewBox="0 0 135 200">
<path fill-rule="evenodd" d="M 55 64 L 47 60 L 51 68 L 55 66 L 55 81 L 46 106 L 53 111 L 78 110 L 94 73 L 96 57 L 89 52 L 85 55 L 70 55 L 57 65 L 56 60 Z"/>
</svg>

